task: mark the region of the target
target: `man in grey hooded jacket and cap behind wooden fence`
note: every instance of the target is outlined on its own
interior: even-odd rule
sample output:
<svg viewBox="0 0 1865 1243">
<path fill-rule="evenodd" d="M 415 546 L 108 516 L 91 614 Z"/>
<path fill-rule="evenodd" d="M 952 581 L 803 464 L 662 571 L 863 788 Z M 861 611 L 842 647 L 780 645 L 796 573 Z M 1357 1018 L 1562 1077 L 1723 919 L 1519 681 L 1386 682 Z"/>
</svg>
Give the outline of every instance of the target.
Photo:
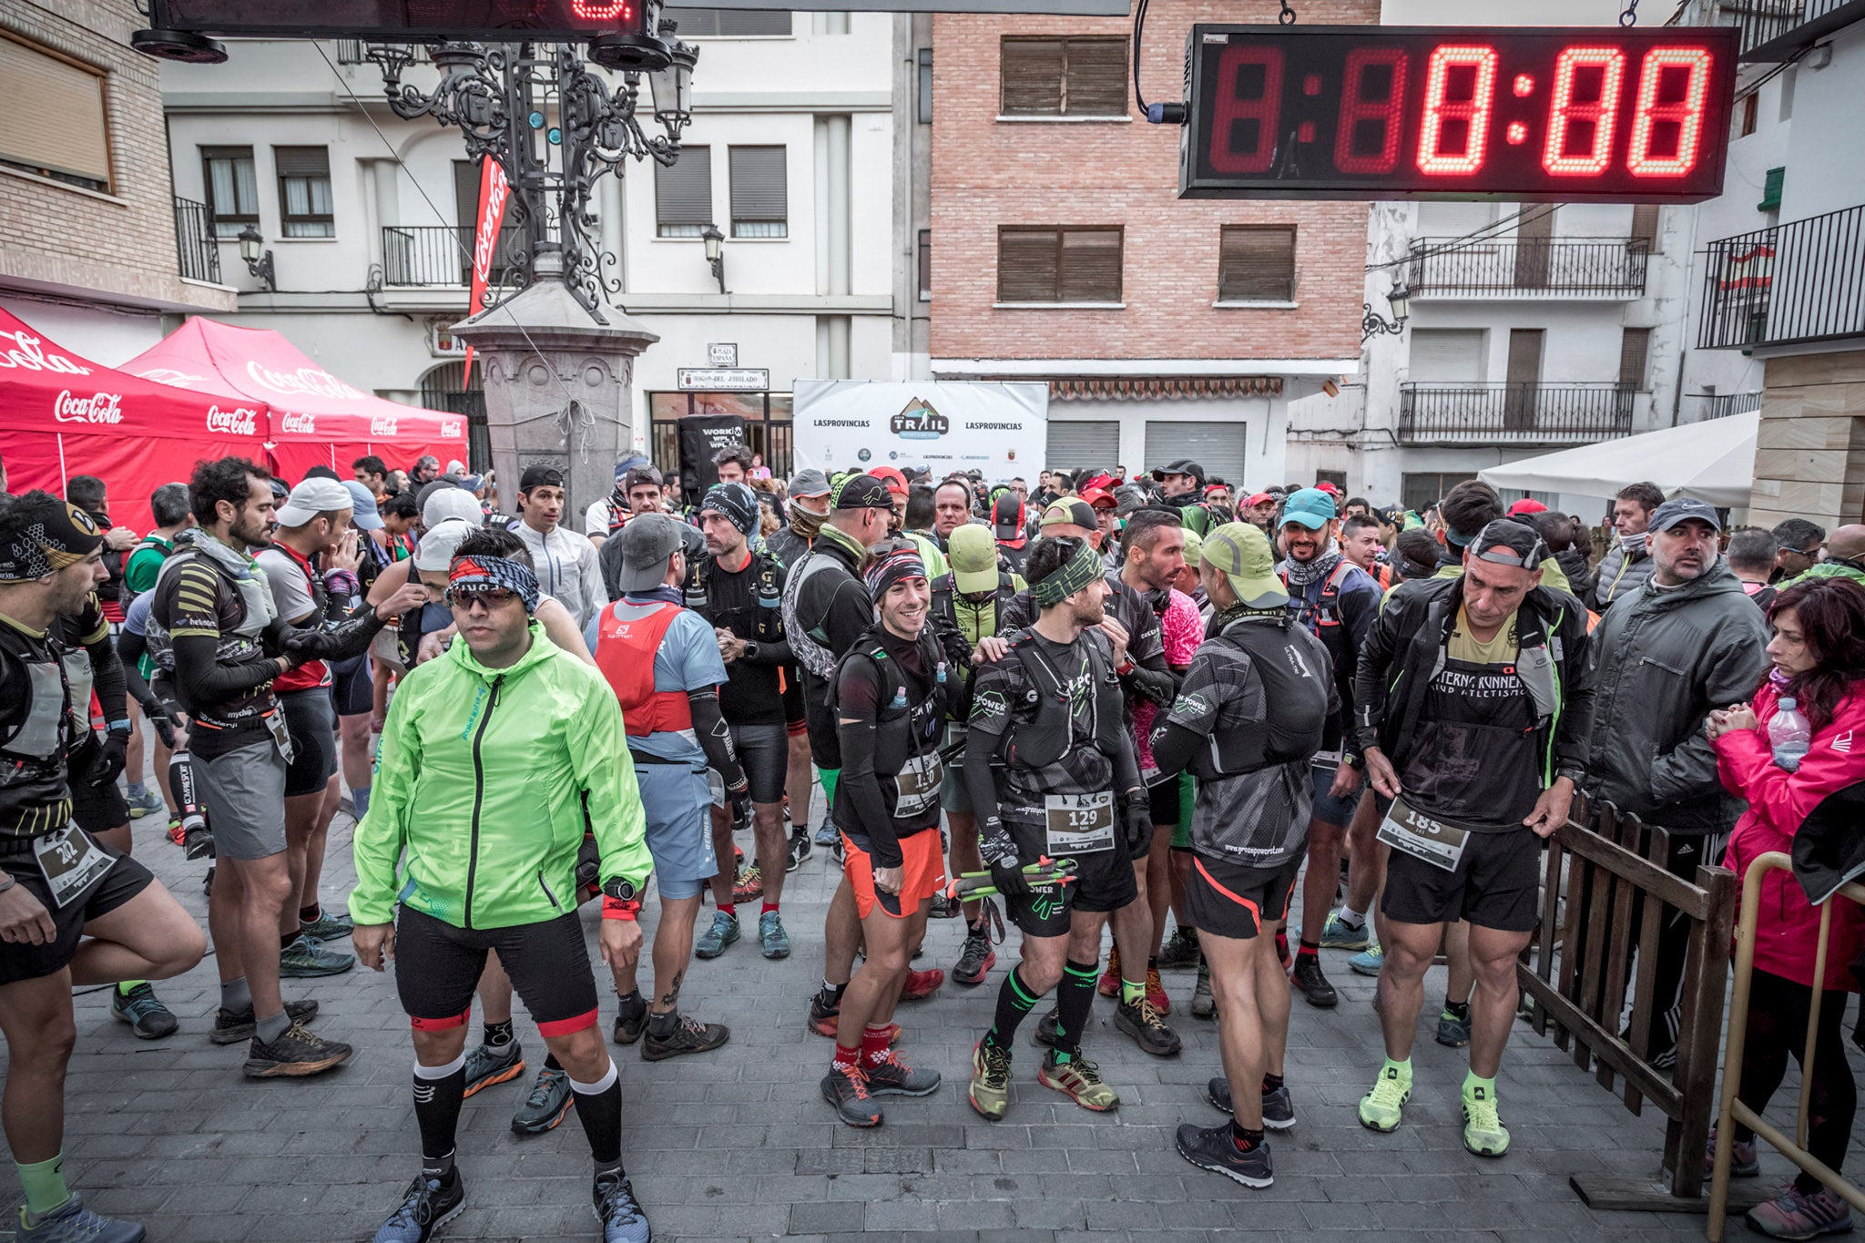
<svg viewBox="0 0 1865 1243">
<path fill-rule="evenodd" d="M 1746 703 L 1768 675 L 1768 626 L 1716 552 L 1721 522 L 1705 501 L 1673 499 L 1651 518 L 1651 578 L 1593 634 L 1593 727 L 1583 788 L 1669 831 L 1665 867 L 1695 880 L 1721 857 L 1742 803 L 1716 777 L 1703 734 L 1710 708 Z M 1746 606 L 1746 608 L 1744 608 Z M 1677 1049 L 1688 921 L 1658 930 L 1651 1059 Z"/>
</svg>

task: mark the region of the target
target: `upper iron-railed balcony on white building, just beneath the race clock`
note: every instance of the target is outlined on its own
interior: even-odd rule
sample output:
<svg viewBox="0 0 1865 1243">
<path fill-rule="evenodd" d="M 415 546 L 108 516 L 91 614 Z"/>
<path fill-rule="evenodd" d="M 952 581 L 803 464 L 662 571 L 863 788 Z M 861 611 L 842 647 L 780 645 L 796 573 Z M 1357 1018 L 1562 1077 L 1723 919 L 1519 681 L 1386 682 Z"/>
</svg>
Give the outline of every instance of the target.
<svg viewBox="0 0 1865 1243">
<path fill-rule="evenodd" d="M 1637 298 L 1649 261 L 1641 237 L 1421 237 L 1406 270 L 1414 298 Z"/>
</svg>

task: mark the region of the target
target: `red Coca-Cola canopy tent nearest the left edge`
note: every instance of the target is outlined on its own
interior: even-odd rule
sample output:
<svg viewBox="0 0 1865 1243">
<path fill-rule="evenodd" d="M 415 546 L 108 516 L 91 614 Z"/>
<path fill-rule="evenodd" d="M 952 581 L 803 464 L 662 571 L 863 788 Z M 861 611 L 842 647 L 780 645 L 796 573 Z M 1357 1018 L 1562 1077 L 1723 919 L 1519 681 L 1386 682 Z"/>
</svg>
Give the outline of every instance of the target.
<svg viewBox="0 0 1865 1243">
<path fill-rule="evenodd" d="M 186 483 L 200 458 L 265 462 L 267 406 L 231 393 L 170 388 L 71 352 L 0 307 L 0 455 L 7 490 L 63 496 L 97 475 L 110 518 L 155 526 L 149 494 Z"/>
</svg>

